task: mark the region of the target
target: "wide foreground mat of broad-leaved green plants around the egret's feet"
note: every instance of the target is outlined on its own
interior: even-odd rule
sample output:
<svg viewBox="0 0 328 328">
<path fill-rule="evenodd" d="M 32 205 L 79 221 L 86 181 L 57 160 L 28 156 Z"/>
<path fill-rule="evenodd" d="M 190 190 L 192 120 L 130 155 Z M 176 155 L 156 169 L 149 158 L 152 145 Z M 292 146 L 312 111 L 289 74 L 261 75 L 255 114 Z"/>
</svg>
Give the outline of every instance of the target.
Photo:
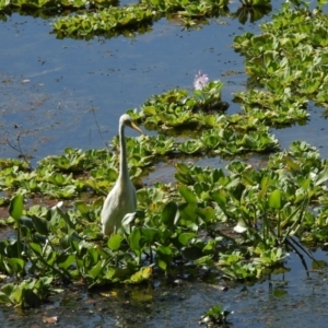
<svg viewBox="0 0 328 328">
<path fill-rule="evenodd" d="M 325 195 L 327 163 L 314 148 L 295 142 L 272 155 L 266 168 L 239 161 L 226 168 L 177 164 L 176 185 L 139 189 L 137 212 L 108 239 L 99 229 L 102 198 L 75 200 L 66 210 L 62 203 L 24 209 L 17 194 L 9 208 L 17 237 L 0 242 L 0 270 L 83 280 L 89 288 L 203 268 L 232 280 L 259 279 L 280 267 L 288 251 L 304 251 L 294 236 L 308 237 L 314 227 L 309 204 Z M 324 209 L 316 230 L 327 229 Z M 234 230 L 223 232 L 223 225 Z M 5 291 L 15 294 L 13 286 Z M 10 295 L 5 303 L 15 297 Z"/>
</svg>

